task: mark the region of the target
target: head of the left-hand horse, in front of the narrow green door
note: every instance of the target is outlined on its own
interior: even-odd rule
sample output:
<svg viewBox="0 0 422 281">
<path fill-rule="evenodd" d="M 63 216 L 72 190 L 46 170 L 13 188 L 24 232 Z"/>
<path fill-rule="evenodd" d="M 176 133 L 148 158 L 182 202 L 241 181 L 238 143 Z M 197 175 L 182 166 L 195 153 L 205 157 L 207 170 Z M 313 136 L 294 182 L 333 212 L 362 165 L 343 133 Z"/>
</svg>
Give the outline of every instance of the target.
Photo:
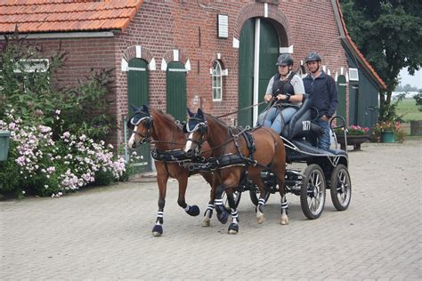
<svg viewBox="0 0 422 281">
<path fill-rule="evenodd" d="M 130 117 L 127 121 L 127 128 L 133 130 L 129 142 L 127 143 L 129 148 L 135 149 L 136 146 L 150 141 L 150 130 L 152 128 L 152 116 L 150 110 L 146 105 L 142 105 L 142 108 L 134 109 L 134 116 Z"/>
</svg>

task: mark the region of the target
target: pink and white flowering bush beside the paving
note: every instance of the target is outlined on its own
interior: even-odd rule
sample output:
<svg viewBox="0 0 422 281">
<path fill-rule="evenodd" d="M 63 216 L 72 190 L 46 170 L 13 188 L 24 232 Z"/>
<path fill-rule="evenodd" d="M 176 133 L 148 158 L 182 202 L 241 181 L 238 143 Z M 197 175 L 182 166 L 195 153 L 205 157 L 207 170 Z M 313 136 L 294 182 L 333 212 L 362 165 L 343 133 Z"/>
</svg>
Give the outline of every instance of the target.
<svg viewBox="0 0 422 281">
<path fill-rule="evenodd" d="M 8 160 L 0 162 L 0 193 L 57 197 L 88 184 L 117 181 L 126 172 L 125 160 L 104 141 L 70 132 L 53 141 L 51 127 L 22 124 L 14 113 L 11 109 L 0 121 L 0 129 L 11 132 Z"/>
</svg>

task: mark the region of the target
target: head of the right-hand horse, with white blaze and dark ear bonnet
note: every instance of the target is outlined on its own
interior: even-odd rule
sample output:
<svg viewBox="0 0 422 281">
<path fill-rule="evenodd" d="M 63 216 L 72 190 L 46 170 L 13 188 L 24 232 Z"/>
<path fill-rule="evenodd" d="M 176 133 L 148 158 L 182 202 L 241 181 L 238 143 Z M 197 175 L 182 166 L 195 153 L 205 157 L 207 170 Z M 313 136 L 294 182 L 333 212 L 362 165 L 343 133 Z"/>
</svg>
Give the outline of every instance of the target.
<svg viewBox="0 0 422 281">
<path fill-rule="evenodd" d="M 188 133 L 184 153 L 187 157 L 199 156 L 202 143 L 207 138 L 207 120 L 200 108 L 195 114 L 188 108 L 188 114 L 189 120 L 183 127 L 183 131 Z"/>
</svg>

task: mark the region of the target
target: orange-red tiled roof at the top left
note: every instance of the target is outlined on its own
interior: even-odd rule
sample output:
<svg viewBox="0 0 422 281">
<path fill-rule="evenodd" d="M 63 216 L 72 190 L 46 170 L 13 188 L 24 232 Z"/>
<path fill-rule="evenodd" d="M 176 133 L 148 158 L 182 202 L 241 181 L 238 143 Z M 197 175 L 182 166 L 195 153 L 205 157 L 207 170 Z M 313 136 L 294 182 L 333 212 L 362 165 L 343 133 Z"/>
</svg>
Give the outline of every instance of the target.
<svg viewBox="0 0 422 281">
<path fill-rule="evenodd" d="M 124 30 L 142 0 L 2 0 L 0 33 Z"/>
</svg>

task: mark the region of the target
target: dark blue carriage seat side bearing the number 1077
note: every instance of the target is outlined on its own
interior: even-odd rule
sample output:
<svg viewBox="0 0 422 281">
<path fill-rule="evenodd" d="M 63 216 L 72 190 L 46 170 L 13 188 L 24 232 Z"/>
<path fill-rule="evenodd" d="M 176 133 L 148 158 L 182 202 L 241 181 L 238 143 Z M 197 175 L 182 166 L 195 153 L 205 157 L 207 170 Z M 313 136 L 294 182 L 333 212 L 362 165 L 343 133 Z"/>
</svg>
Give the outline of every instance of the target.
<svg viewBox="0 0 422 281">
<path fill-rule="evenodd" d="M 304 103 L 292 116 L 290 122 L 284 126 L 280 135 L 288 141 L 300 139 L 309 136 L 310 133 L 320 135 L 321 127 L 312 122 L 318 116 L 318 110 L 312 108 L 312 99 L 310 95 L 304 94 Z"/>
</svg>

